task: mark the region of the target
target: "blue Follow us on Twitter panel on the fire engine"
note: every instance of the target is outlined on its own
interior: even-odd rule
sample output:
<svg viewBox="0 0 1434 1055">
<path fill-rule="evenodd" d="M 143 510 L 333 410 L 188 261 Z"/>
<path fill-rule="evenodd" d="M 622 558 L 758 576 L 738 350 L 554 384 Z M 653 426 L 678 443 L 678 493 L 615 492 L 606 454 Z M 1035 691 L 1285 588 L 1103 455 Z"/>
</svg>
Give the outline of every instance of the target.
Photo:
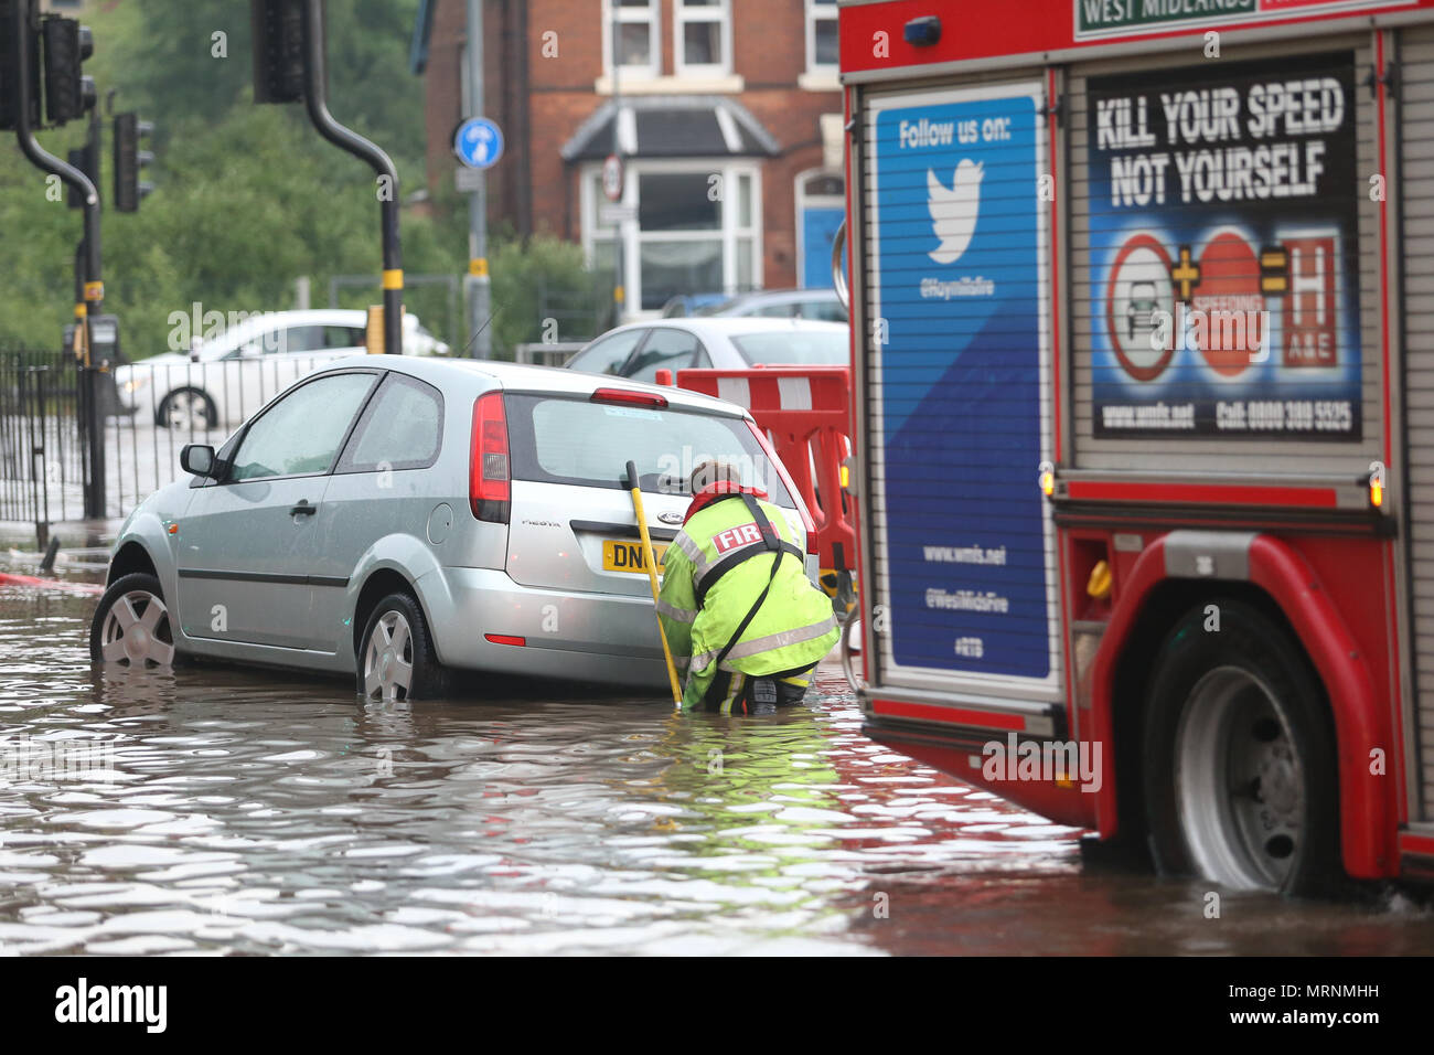
<svg viewBox="0 0 1434 1055">
<path fill-rule="evenodd" d="M 875 362 L 903 667 L 1050 679 L 1040 83 L 879 103 Z"/>
</svg>

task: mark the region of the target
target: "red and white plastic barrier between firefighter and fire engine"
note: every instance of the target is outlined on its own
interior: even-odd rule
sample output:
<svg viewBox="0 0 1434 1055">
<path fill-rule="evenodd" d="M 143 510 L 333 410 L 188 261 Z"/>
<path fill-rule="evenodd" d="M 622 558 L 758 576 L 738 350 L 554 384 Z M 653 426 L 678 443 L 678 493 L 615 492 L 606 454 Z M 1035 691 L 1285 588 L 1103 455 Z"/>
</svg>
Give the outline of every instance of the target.
<svg viewBox="0 0 1434 1055">
<path fill-rule="evenodd" d="M 842 462 L 852 452 L 850 370 L 845 366 L 678 370 L 677 386 L 751 411 L 812 511 L 823 574 L 850 570 L 856 554 L 856 508 L 853 495 L 842 488 Z"/>
</svg>

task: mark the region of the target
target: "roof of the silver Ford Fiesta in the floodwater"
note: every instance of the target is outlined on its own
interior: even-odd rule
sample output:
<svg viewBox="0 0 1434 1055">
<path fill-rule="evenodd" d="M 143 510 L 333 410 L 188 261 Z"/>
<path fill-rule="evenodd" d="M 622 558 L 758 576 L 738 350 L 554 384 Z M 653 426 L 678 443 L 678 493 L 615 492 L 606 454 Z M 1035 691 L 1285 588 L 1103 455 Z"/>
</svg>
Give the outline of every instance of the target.
<svg viewBox="0 0 1434 1055">
<path fill-rule="evenodd" d="M 667 385 L 647 385 L 627 378 L 609 378 L 599 373 L 582 373 L 561 366 L 528 366 L 525 363 L 503 363 L 492 359 L 436 359 L 430 356 L 346 356 L 324 365 L 324 370 L 354 366 L 381 366 L 387 370 L 406 373 L 426 380 L 436 388 L 443 382 L 490 379 L 508 392 L 552 393 L 591 396 L 598 389 L 628 389 L 651 392 L 667 399 L 668 406 L 687 411 L 701 411 L 727 418 L 750 418 L 750 412 L 737 403 L 704 396 L 688 389 Z"/>
</svg>

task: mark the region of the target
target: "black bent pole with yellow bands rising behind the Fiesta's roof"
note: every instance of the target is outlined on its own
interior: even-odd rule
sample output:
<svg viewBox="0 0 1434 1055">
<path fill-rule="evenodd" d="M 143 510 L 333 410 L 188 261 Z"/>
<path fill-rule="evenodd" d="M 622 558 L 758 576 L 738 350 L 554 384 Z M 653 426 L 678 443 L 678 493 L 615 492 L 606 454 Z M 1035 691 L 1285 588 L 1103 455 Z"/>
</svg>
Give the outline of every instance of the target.
<svg viewBox="0 0 1434 1055">
<path fill-rule="evenodd" d="M 403 250 L 399 245 L 399 171 L 377 145 L 350 128 L 344 128 L 328 112 L 328 69 L 324 55 L 324 4 L 307 0 L 304 4 L 305 63 L 304 105 L 308 119 L 328 142 L 356 158 L 367 161 L 379 178 L 387 177 L 387 188 L 380 188 L 379 210 L 383 224 L 383 350 L 403 355 Z"/>
</svg>

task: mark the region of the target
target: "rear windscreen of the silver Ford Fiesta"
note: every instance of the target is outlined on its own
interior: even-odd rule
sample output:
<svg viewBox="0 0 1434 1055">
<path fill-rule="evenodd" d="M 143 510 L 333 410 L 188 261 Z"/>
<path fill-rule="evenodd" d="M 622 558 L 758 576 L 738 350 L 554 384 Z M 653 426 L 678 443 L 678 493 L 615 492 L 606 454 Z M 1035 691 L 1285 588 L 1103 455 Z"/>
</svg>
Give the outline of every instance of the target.
<svg viewBox="0 0 1434 1055">
<path fill-rule="evenodd" d="M 720 461 L 744 485 L 796 508 L 741 418 L 512 393 L 503 403 L 513 479 L 622 488 L 631 461 L 644 491 L 685 495 L 693 469 Z"/>
</svg>

